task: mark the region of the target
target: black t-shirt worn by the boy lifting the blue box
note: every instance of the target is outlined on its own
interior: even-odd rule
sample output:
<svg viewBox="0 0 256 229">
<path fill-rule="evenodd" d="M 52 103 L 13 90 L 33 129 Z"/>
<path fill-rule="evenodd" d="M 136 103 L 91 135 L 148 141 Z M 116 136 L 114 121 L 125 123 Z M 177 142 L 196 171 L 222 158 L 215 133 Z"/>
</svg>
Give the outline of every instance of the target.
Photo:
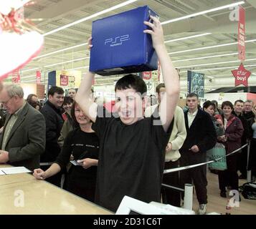
<svg viewBox="0 0 256 229">
<path fill-rule="evenodd" d="M 120 118 L 98 117 L 92 126 L 100 137 L 95 203 L 116 211 L 125 195 L 160 202 L 166 145 L 171 135 L 153 116 L 124 125 Z M 99 117 L 101 115 L 101 117 Z M 155 116 L 156 117 L 156 116 Z"/>
</svg>

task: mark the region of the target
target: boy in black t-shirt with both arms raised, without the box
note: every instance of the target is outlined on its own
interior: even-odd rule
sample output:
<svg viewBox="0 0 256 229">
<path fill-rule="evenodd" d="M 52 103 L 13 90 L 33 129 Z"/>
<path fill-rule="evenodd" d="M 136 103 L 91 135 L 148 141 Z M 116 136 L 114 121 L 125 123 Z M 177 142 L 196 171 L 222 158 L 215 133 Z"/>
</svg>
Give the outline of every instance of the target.
<svg viewBox="0 0 256 229">
<path fill-rule="evenodd" d="M 102 107 L 90 99 L 92 72 L 86 74 L 75 97 L 94 122 L 92 128 L 100 137 L 95 202 L 113 211 L 118 209 L 125 195 L 146 203 L 160 202 L 164 152 L 171 135 L 171 121 L 180 89 L 179 76 L 163 43 L 160 21 L 153 16 L 151 19 L 153 23 L 144 21 L 150 29 L 143 32 L 152 36 L 166 84 L 159 114 L 143 118 L 147 102 L 146 84 L 132 74 L 119 79 L 115 85 L 118 117 L 103 112 Z"/>
</svg>

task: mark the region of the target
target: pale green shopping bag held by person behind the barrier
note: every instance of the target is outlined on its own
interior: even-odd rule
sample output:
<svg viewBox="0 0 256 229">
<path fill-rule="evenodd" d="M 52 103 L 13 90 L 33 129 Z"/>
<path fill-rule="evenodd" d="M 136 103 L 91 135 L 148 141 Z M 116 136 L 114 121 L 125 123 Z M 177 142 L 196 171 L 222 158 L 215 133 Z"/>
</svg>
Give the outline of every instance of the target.
<svg viewBox="0 0 256 229">
<path fill-rule="evenodd" d="M 217 142 L 211 150 L 207 150 L 207 159 L 216 160 L 208 164 L 210 170 L 227 170 L 226 150 L 222 143 Z"/>
</svg>

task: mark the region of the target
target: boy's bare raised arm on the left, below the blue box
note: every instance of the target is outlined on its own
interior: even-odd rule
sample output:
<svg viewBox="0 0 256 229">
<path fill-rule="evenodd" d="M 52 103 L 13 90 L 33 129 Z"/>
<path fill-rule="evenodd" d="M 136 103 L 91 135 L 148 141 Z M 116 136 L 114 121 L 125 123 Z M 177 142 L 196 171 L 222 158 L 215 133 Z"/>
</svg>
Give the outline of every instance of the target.
<svg viewBox="0 0 256 229">
<path fill-rule="evenodd" d="M 94 75 L 93 72 L 87 72 L 85 74 L 75 96 L 77 104 L 93 122 L 95 122 L 97 117 L 97 104 L 93 102 L 93 97 L 91 96 Z"/>
</svg>

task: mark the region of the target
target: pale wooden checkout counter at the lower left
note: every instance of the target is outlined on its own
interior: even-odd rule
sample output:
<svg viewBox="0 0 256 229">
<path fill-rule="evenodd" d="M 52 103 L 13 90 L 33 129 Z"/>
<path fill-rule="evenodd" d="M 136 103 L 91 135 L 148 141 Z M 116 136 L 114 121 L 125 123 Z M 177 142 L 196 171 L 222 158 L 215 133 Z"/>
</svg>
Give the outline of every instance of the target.
<svg viewBox="0 0 256 229">
<path fill-rule="evenodd" d="M 11 167 L 10 165 L 0 165 Z M 0 215 L 112 215 L 88 200 L 29 173 L 0 175 Z"/>
</svg>

